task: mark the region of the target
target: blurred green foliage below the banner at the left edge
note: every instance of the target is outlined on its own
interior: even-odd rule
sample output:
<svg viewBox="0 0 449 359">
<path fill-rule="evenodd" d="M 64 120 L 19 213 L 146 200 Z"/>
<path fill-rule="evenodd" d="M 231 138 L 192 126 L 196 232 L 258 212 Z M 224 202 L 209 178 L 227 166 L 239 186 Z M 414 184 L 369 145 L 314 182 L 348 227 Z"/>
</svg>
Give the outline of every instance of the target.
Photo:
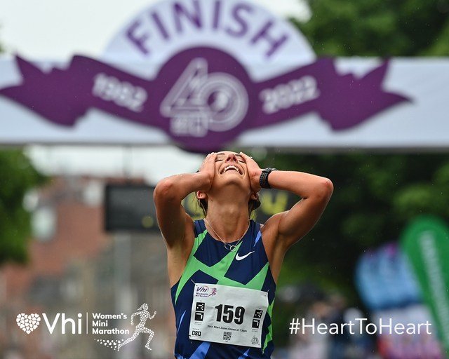
<svg viewBox="0 0 449 359">
<path fill-rule="evenodd" d="M 26 262 L 29 241 L 29 213 L 23 208 L 25 193 L 45 177 L 20 150 L 0 151 L 0 265 Z"/>
</svg>

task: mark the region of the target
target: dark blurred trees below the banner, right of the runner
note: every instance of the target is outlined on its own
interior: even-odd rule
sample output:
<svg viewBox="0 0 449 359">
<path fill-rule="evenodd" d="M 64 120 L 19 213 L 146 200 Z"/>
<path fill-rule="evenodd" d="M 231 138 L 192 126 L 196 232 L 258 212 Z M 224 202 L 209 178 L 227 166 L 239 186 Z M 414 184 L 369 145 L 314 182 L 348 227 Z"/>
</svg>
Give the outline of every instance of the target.
<svg viewBox="0 0 449 359">
<path fill-rule="evenodd" d="M 255 156 L 255 154 L 253 154 Z M 297 155 L 270 153 L 263 167 L 301 170 L 332 179 L 333 197 L 314 229 L 288 251 L 278 287 L 314 283 L 363 306 L 354 285 L 358 258 L 397 241 L 405 224 L 423 213 L 449 218 L 449 158 L 445 154 Z M 279 300 L 279 299 L 278 299 Z M 297 307 L 275 306 L 276 343 Z"/>
</svg>

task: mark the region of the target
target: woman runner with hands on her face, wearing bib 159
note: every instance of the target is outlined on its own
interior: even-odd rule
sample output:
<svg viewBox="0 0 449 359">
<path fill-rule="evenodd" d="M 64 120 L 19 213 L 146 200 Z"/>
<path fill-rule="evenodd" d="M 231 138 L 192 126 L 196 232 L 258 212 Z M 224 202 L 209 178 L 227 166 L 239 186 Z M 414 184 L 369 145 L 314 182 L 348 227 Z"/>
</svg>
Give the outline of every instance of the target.
<svg viewBox="0 0 449 359">
<path fill-rule="evenodd" d="M 258 224 L 250 213 L 260 205 L 261 187 L 302 199 Z M 181 205 L 192 192 L 205 215 L 198 221 Z M 208 154 L 198 172 L 157 184 L 154 203 L 175 309 L 175 358 L 270 358 L 283 257 L 316 224 L 332 192 L 327 178 L 262 170 L 253 158 L 232 151 Z"/>
</svg>

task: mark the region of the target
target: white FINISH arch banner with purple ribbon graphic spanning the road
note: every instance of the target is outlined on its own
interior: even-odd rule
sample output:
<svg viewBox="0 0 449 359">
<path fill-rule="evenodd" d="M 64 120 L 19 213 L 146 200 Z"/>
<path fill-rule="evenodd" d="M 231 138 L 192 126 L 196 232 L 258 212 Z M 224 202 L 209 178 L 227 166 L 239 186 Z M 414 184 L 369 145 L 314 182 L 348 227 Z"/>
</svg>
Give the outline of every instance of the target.
<svg viewBox="0 0 449 359">
<path fill-rule="evenodd" d="M 449 59 L 316 59 L 239 0 L 145 8 L 100 59 L 0 57 L 4 144 L 444 149 Z"/>
</svg>

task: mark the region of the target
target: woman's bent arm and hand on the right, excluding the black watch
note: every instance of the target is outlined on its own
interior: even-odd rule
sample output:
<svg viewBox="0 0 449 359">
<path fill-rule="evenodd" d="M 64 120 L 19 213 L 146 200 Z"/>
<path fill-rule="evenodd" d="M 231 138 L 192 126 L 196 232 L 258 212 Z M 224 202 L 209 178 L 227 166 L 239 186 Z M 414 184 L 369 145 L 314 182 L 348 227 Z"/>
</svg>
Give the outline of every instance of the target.
<svg viewBox="0 0 449 359">
<path fill-rule="evenodd" d="M 251 188 L 260 191 L 262 170 L 253 158 L 244 154 L 242 156 L 250 175 Z M 267 221 L 267 225 L 277 226 L 276 242 L 287 250 L 318 222 L 332 195 L 333 184 L 326 177 L 281 170 L 272 171 L 268 181 L 270 187 L 293 192 L 302 198 L 290 210 L 278 213 Z"/>
</svg>

